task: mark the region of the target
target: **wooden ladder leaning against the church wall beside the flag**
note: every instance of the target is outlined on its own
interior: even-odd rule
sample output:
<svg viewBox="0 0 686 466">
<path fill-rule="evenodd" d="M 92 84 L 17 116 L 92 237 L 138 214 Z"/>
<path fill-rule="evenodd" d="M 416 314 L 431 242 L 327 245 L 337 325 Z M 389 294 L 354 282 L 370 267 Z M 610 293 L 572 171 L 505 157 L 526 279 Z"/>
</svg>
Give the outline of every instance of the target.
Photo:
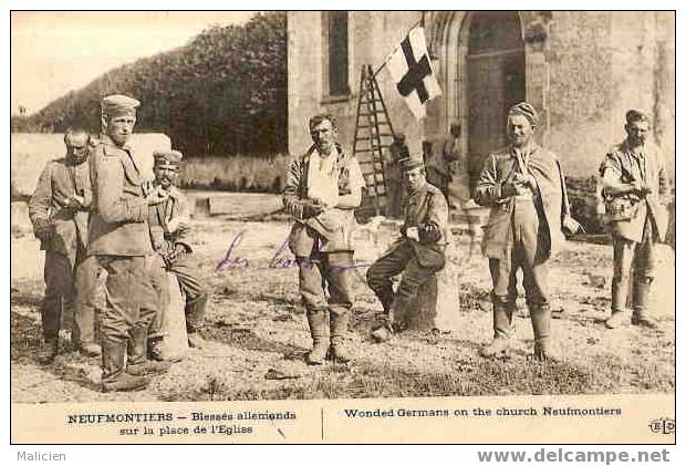
<svg viewBox="0 0 686 466">
<path fill-rule="evenodd" d="M 387 158 L 384 155 L 389 151 L 393 135 L 386 103 L 372 65 L 363 65 L 353 142 L 353 154 L 357 157 L 366 185 L 362 205 L 357 209 L 358 217 L 384 215 L 386 211 L 387 185 L 384 163 Z"/>
</svg>

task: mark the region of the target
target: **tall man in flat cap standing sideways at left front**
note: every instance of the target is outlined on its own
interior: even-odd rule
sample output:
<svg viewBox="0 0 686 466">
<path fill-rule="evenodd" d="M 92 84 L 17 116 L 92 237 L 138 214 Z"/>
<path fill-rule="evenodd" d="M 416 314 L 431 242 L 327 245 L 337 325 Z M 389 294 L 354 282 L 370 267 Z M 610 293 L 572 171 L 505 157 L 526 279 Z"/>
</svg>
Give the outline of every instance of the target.
<svg viewBox="0 0 686 466">
<path fill-rule="evenodd" d="M 152 253 L 148 205 L 164 201 L 168 193 L 143 183 L 128 146 L 138 105 L 126 95 L 103 99 L 104 134 L 91 155 L 96 210 L 89 226 L 89 255 L 107 273 L 101 319 L 104 392 L 143 389 L 148 383 L 143 375 L 168 369 L 147 361 L 148 327 L 157 312 L 145 269 L 145 257 Z"/>
</svg>

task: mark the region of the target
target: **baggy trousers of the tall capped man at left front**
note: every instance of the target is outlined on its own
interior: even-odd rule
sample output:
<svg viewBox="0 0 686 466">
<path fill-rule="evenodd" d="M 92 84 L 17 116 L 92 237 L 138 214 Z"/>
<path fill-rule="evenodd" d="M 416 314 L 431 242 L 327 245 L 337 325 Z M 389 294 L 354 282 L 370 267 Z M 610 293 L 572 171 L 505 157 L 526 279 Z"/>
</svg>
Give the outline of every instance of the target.
<svg viewBox="0 0 686 466">
<path fill-rule="evenodd" d="M 107 278 L 106 307 L 101 319 L 101 339 L 128 341 L 134 327 L 148 328 L 157 313 L 157 296 L 143 256 L 96 256 Z"/>
</svg>

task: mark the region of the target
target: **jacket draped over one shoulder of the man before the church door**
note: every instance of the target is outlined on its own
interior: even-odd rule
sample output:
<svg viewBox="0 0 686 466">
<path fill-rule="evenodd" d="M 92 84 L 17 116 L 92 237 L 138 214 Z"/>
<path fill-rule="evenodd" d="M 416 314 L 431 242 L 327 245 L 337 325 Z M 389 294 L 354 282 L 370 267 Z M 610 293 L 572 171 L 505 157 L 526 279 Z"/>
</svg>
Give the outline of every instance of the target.
<svg viewBox="0 0 686 466">
<path fill-rule="evenodd" d="M 539 248 L 543 259 L 550 258 L 564 242 L 562 217 L 569 215 L 564 199 L 564 177 L 555 155 L 540 146 L 531 149 L 528 170 L 537 182 L 533 193 L 539 220 Z M 492 259 L 505 259 L 512 246 L 511 218 L 516 199 L 502 196 L 502 185 L 518 172 L 518 162 L 512 148 L 490 154 L 476 187 L 475 201 L 490 207 L 485 227 L 481 250 Z"/>
</svg>

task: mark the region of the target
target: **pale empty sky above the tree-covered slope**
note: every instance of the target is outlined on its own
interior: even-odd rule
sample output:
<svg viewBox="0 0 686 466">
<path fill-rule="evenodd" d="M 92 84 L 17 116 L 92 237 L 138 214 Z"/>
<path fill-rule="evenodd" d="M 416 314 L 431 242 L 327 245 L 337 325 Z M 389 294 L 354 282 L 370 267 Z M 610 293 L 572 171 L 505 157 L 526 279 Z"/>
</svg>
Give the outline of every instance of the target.
<svg viewBox="0 0 686 466">
<path fill-rule="evenodd" d="M 186 44 L 212 24 L 250 11 L 32 12 L 11 14 L 11 111 L 41 110 L 102 73 Z"/>
</svg>

